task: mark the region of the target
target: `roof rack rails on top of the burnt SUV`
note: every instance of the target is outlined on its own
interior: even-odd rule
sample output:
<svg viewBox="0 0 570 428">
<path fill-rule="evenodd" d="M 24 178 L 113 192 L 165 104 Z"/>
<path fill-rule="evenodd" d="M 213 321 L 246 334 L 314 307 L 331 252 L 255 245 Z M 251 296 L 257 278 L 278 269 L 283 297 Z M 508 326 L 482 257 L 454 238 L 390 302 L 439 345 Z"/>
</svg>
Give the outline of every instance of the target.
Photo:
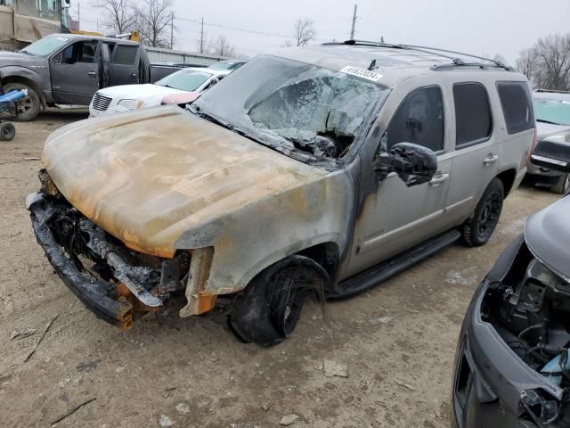
<svg viewBox="0 0 570 428">
<path fill-rule="evenodd" d="M 422 53 L 429 53 L 432 55 L 437 55 L 442 58 L 446 58 L 451 60 L 450 64 L 442 64 L 436 65 L 432 67 L 432 70 L 444 70 L 449 69 L 452 67 L 479 67 L 479 68 L 487 68 L 487 67 L 495 67 L 504 70 L 513 70 L 512 67 L 509 65 L 503 64 L 500 61 L 492 60 L 491 58 L 485 58 L 483 56 L 477 56 L 470 53 L 462 53 L 457 51 L 450 51 L 448 49 L 440 49 L 437 47 L 429 47 L 429 46 L 419 46 L 419 45 L 393 45 L 389 43 L 380 43 L 380 42 L 372 42 L 369 40 L 346 40 L 344 42 L 332 42 L 332 43 L 324 43 L 323 45 L 359 45 L 359 46 L 374 46 L 374 47 L 387 47 L 387 48 L 394 48 L 394 49 L 406 49 L 416 52 Z M 452 55 L 457 54 L 460 56 L 465 56 L 468 58 L 475 58 L 477 60 L 481 60 L 483 62 L 465 62 L 461 58 L 457 56 L 452 56 L 446 53 L 451 53 Z"/>
</svg>

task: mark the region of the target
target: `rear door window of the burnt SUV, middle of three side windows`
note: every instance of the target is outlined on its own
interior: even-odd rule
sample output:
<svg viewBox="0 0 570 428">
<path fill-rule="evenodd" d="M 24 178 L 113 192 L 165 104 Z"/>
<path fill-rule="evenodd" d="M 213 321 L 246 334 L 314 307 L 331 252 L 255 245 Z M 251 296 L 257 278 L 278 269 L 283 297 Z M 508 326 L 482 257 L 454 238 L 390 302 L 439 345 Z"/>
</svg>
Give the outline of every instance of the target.
<svg viewBox="0 0 570 428">
<path fill-rule="evenodd" d="M 455 147 L 487 141 L 493 132 L 489 96 L 485 86 L 478 83 L 458 83 L 453 86 L 455 101 Z"/>
</svg>

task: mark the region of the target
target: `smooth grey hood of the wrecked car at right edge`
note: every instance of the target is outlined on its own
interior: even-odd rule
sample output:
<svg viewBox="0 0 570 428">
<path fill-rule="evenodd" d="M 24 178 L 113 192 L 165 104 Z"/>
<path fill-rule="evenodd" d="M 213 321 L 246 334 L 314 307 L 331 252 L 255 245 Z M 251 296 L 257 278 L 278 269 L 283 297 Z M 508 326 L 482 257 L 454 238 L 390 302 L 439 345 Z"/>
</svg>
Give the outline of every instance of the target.
<svg viewBox="0 0 570 428">
<path fill-rule="evenodd" d="M 570 278 L 570 196 L 537 212 L 526 221 L 525 241 L 533 254 Z"/>
</svg>

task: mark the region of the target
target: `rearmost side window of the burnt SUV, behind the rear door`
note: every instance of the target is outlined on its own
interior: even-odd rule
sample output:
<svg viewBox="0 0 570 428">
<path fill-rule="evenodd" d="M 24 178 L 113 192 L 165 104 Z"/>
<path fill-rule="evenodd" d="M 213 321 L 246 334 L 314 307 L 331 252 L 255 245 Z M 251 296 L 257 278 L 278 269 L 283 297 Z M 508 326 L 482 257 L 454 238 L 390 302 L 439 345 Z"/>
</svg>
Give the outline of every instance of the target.
<svg viewBox="0 0 570 428">
<path fill-rule="evenodd" d="M 534 128 L 531 95 L 526 82 L 498 82 L 497 91 L 507 123 L 507 132 L 517 134 Z"/>
</svg>

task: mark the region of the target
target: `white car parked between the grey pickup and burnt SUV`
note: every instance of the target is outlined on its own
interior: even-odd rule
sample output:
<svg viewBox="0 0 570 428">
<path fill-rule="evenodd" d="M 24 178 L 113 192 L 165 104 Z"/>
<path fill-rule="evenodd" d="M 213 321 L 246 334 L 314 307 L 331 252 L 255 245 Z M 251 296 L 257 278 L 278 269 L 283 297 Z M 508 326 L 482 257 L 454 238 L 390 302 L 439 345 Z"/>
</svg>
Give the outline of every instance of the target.
<svg viewBox="0 0 570 428">
<path fill-rule="evenodd" d="M 95 117 L 103 113 L 156 107 L 163 103 L 167 95 L 201 94 L 231 72 L 232 70 L 190 68 L 178 70 L 154 84 L 106 87 L 95 93 L 89 105 L 89 113 Z"/>
</svg>

